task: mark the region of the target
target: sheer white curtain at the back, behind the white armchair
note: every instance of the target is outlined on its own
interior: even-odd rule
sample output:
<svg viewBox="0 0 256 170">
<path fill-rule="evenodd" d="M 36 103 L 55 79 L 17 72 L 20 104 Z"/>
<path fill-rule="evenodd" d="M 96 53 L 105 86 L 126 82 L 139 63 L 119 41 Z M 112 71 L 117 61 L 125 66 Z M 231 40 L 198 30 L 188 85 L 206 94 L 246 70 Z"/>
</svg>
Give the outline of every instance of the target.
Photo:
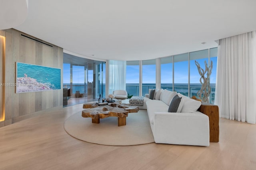
<svg viewBox="0 0 256 170">
<path fill-rule="evenodd" d="M 126 90 L 126 61 L 109 61 L 109 90 Z"/>
</svg>

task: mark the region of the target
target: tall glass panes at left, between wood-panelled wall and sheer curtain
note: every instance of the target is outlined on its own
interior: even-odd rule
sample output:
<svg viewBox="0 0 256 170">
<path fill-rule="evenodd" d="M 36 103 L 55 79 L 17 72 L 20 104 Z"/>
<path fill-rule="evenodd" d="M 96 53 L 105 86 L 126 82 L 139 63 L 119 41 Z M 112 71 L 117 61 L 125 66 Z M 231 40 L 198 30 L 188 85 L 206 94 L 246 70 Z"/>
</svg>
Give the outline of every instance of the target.
<svg viewBox="0 0 256 170">
<path fill-rule="evenodd" d="M 105 96 L 106 64 L 63 54 L 63 106 L 98 100 Z"/>
</svg>

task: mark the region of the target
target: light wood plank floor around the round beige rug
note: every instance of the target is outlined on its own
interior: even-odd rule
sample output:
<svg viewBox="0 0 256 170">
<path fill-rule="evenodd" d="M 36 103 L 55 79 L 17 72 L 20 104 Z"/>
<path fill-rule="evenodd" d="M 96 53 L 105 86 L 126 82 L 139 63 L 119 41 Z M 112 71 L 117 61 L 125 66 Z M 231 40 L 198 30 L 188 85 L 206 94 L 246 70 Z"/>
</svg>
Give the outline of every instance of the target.
<svg viewBox="0 0 256 170">
<path fill-rule="evenodd" d="M 64 121 L 82 104 L 40 111 L 0 128 L 0 170 L 255 170 L 256 125 L 220 119 L 210 147 L 146 144 L 104 146 L 68 135 Z"/>
</svg>

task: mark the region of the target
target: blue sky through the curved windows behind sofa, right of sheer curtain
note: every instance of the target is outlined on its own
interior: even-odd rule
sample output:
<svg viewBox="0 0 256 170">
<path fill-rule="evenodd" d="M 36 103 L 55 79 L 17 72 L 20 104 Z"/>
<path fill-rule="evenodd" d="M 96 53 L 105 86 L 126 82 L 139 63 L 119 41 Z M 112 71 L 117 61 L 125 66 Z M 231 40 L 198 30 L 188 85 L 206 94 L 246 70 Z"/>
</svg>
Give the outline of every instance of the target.
<svg viewBox="0 0 256 170">
<path fill-rule="evenodd" d="M 213 69 L 211 74 L 211 83 L 216 83 L 217 57 L 211 57 Z M 205 70 L 205 59 L 196 60 Z M 209 66 L 209 65 L 208 65 Z M 126 83 L 139 83 L 139 66 L 128 65 L 126 67 Z M 174 63 L 174 82 L 188 83 L 188 61 Z M 200 83 L 200 74 L 194 60 L 190 61 L 190 83 Z M 156 83 L 156 66 L 142 66 L 142 83 Z M 172 83 L 172 63 L 161 65 L 161 83 Z"/>
</svg>

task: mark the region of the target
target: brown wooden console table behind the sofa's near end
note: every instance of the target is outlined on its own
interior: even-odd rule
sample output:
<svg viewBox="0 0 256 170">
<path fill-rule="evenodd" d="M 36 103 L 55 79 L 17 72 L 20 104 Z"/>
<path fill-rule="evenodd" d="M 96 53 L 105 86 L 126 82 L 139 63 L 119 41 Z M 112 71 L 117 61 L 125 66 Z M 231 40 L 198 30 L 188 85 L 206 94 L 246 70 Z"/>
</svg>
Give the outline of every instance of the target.
<svg viewBox="0 0 256 170">
<path fill-rule="evenodd" d="M 219 107 L 202 102 L 198 111 L 208 115 L 210 125 L 210 142 L 219 142 Z"/>
</svg>

